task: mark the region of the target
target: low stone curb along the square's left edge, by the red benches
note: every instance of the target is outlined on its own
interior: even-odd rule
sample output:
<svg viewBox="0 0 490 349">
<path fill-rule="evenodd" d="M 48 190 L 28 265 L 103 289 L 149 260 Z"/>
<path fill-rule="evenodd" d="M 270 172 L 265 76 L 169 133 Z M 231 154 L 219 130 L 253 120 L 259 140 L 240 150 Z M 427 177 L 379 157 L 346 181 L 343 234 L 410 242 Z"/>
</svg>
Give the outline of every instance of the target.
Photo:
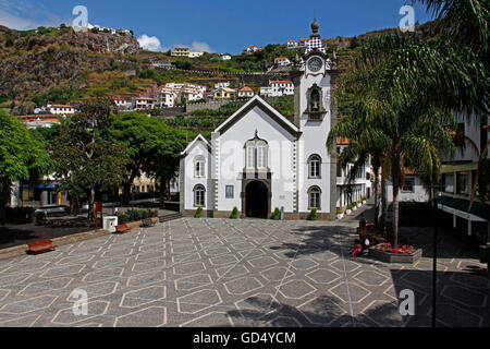
<svg viewBox="0 0 490 349">
<path fill-rule="evenodd" d="M 155 224 L 159 222 L 159 218 L 151 218 L 151 220 Z M 139 228 L 142 226 L 142 224 L 143 224 L 143 220 L 138 220 L 138 221 L 128 222 L 126 225 L 131 229 L 135 229 L 135 228 Z M 109 236 L 109 234 L 111 234 L 111 232 L 109 232 L 108 230 L 100 229 L 100 230 L 91 230 L 91 231 L 86 231 L 86 232 L 78 232 L 78 233 L 74 233 L 74 234 L 61 237 L 61 238 L 54 238 L 54 239 L 51 239 L 51 241 L 53 244 L 56 244 L 58 246 L 63 246 L 63 245 L 76 243 L 79 241 L 91 240 L 91 239 L 96 239 L 96 238 L 100 238 L 100 237 L 105 237 L 105 236 Z M 9 258 L 20 256 L 20 255 L 24 255 L 26 253 L 27 249 L 28 249 L 27 244 L 23 244 L 20 246 L 0 250 L 0 261 L 9 260 Z"/>
</svg>

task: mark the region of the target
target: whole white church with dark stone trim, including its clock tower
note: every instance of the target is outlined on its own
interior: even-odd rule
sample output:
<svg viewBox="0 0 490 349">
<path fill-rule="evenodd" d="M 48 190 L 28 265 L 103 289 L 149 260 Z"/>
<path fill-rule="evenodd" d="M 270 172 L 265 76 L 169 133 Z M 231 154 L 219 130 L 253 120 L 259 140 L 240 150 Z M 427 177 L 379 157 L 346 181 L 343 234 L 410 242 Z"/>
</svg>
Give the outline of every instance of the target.
<svg viewBox="0 0 490 349">
<path fill-rule="evenodd" d="M 292 72 L 295 117 L 289 121 L 259 96 L 254 97 L 213 132 L 198 135 L 182 153 L 181 214 L 229 218 L 271 218 L 275 208 L 284 219 L 332 220 L 340 201 L 338 154 L 327 137 L 336 122 L 331 68 L 318 34 L 313 35 L 301 67 Z M 342 195 L 342 194 L 341 194 Z"/>
</svg>

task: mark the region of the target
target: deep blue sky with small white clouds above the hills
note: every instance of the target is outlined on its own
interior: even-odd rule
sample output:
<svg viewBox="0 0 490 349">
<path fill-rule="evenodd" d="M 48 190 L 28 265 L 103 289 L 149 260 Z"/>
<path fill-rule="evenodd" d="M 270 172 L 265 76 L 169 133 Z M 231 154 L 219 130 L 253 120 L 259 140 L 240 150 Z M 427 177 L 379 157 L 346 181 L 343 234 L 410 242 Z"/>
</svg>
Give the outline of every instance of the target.
<svg viewBox="0 0 490 349">
<path fill-rule="evenodd" d="M 154 50 L 189 46 L 238 53 L 248 45 L 283 44 L 308 37 L 314 11 L 323 38 L 354 36 L 395 27 L 411 0 L 0 0 L 0 25 L 17 29 L 71 24 L 75 5 L 85 5 L 88 22 L 133 29 Z M 430 16 L 415 5 L 415 20 Z"/>
</svg>

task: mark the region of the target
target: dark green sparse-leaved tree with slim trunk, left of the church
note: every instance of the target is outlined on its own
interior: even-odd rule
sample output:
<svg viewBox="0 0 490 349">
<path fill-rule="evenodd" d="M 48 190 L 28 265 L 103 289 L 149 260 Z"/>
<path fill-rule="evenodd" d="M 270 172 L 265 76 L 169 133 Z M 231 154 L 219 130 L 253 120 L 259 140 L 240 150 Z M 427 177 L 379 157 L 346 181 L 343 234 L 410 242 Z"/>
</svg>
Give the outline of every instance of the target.
<svg viewBox="0 0 490 349">
<path fill-rule="evenodd" d="M 62 122 L 53 142 L 57 178 L 70 195 L 88 198 L 88 218 L 94 218 L 97 190 L 110 190 L 123 182 L 126 149 L 110 137 L 115 105 L 110 98 L 85 101 L 79 113 Z"/>
</svg>

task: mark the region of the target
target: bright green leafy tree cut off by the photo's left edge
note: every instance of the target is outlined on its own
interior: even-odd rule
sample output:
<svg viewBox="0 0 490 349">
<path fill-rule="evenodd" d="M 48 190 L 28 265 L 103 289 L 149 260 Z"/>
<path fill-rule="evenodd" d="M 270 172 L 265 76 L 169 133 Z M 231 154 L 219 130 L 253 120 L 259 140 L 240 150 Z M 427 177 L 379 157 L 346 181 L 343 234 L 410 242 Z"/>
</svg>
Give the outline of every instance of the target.
<svg viewBox="0 0 490 349">
<path fill-rule="evenodd" d="M 32 135 L 25 125 L 0 109 L 0 219 L 14 181 L 38 181 L 48 174 L 51 161 L 46 144 Z"/>
</svg>

